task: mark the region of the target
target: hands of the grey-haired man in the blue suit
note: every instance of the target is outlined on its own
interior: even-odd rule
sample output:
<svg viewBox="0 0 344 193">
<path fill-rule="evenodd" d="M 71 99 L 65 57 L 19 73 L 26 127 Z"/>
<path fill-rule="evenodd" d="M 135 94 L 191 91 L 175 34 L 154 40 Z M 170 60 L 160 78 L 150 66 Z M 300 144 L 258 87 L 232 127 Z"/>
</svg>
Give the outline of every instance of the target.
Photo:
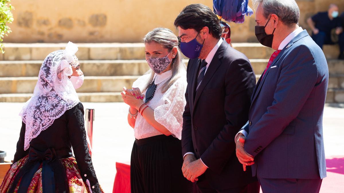
<svg viewBox="0 0 344 193">
<path fill-rule="evenodd" d="M 246 171 L 246 166 L 251 166 L 255 163 L 254 157 L 248 154 L 244 149 L 245 140 L 246 137 L 242 133 L 239 133 L 235 138 L 236 156 L 239 162 L 243 164 L 244 171 Z"/>
</svg>

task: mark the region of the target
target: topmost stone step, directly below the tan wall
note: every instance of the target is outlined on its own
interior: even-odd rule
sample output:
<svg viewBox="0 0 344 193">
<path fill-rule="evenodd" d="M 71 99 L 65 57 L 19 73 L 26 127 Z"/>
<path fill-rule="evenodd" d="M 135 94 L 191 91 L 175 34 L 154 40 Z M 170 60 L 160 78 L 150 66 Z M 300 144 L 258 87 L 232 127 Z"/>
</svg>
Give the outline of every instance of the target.
<svg viewBox="0 0 344 193">
<path fill-rule="evenodd" d="M 143 43 L 80 43 L 77 57 L 80 60 L 137 60 L 144 59 Z M 4 43 L 4 54 L 0 60 L 44 60 L 51 52 L 64 49 L 65 43 Z M 233 43 L 233 47 L 244 53 L 249 59 L 269 59 L 273 49 L 259 43 Z M 324 45 L 328 59 L 337 59 L 337 45 Z"/>
</svg>

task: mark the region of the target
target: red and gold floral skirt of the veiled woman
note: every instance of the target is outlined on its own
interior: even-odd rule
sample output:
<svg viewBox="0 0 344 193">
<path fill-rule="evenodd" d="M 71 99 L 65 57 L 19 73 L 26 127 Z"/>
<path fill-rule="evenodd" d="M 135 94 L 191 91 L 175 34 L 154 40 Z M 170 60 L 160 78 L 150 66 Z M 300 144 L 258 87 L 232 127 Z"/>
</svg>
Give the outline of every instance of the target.
<svg viewBox="0 0 344 193">
<path fill-rule="evenodd" d="M 15 162 L 12 167 L 7 171 L 1 186 L 0 193 L 7 193 L 10 185 L 13 183 L 15 176 L 20 171 L 20 168 L 28 161 L 28 156 L 25 156 L 23 159 Z M 66 178 L 68 180 L 69 192 L 71 193 L 89 193 L 89 188 L 86 183 L 84 183 L 81 178 L 80 171 L 76 164 L 74 157 L 65 158 L 60 160 L 66 169 Z M 19 188 L 20 181 L 18 182 L 15 193 L 17 193 Z M 42 164 L 34 174 L 32 181 L 30 183 L 28 192 L 43 193 L 42 190 Z"/>
</svg>

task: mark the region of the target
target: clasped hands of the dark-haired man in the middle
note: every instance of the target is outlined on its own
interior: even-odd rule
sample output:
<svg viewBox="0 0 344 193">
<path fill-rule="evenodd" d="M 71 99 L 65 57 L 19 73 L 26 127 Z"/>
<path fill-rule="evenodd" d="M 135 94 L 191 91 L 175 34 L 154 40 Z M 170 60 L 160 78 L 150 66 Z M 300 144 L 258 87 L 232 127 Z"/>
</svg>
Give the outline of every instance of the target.
<svg viewBox="0 0 344 193">
<path fill-rule="evenodd" d="M 183 175 L 186 179 L 191 182 L 198 180 L 198 177 L 202 175 L 207 170 L 207 167 L 201 161 L 201 159 L 196 159 L 192 154 L 187 154 L 184 157 L 184 162 L 182 166 Z"/>
</svg>

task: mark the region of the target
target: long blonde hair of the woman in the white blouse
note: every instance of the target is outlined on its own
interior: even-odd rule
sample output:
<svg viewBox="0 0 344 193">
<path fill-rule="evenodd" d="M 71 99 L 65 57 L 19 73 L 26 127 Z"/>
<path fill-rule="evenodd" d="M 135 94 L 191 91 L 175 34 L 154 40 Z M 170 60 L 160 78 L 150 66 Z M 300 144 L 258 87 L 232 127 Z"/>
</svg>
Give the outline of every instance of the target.
<svg viewBox="0 0 344 193">
<path fill-rule="evenodd" d="M 176 47 L 177 48 L 177 54 L 175 58 L 172 58 L 172 63 L 171 63 L 171 70 L 172 70 L 172 76 L 171 78 L 166 81 L 163 86 L 162 86 L 162 93 L 166 92 L 172 84 L 182 76 L 183 72 L 186 71 L 186 66 L 185 63 L 183 62 L 183 57 L 179 49 L 179 42 L 178 42 L 178 37 L 173 34 L 173 32 L 167 28 L 163 27 L 158 27 L 153 29 L 152 31 L 148 32 L 146 36 L 143 38 L 143 42 L 146 43 L 151 43 L 155 42 L 163 46 L 164 48 L 169 49 L 170 51 Z M 150 74 L 150 78 L 144 87 L 143 91 L 147 90 L 150 83 L 153 81 L 154 78 L 154 72 L 152 69 L 150 69 L 146 74 Z"/>
</svg>

